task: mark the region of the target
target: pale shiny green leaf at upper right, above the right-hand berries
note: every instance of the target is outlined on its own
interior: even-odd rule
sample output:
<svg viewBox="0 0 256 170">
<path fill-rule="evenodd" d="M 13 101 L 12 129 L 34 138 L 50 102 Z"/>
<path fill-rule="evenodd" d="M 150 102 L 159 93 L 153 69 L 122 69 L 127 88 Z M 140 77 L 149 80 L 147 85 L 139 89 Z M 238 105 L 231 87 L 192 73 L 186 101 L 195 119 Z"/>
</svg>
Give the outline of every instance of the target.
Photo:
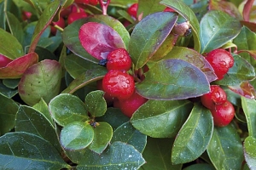
<svg viewBox="0 0 256 170">
<path fill-rule="evenodd" d="M 210 10 L 200 22 L 201 54 L 220 48 L 241 31 L 239 20 L 219 10 Z"/>
</svg>

